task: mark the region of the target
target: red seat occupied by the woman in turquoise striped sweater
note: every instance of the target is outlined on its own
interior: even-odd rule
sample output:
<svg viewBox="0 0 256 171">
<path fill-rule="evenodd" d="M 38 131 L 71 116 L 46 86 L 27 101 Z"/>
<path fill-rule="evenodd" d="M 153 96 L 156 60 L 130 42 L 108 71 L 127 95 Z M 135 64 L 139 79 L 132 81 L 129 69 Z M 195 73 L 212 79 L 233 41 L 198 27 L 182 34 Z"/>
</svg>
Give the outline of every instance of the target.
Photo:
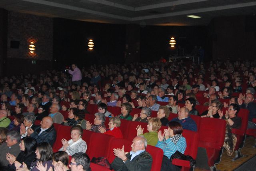
<svg viewBox="0 0 256 171">
<path fill-rule="evenodd" d="M 198 150 L 199 133 L 195 131 L 189 131 L 184 129 L 182 135 L 186 138 L 187 147 L 185 155 L 190 155 L 193 159 L 196 159 Z M 173 159 L 174 165 L 182 166 L 182 171 L 189 171 L 190 162 L 186 160 Z"/>
</svg>

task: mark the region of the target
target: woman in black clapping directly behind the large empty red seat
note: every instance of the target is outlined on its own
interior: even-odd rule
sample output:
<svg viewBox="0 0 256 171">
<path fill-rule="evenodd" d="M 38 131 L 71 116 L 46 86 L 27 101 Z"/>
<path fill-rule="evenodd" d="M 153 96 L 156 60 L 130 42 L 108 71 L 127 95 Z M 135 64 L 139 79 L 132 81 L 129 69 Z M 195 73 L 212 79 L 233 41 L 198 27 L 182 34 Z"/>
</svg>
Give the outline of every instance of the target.
<svg viewBox="0 0 256 171">
<path fill-rule="evenodd" d="M 201 117 L 213 117 L 213 118 L 220 118 L 218 113 L 223 107 L 222 103 L 219 100 L 212 100 L 212 105 L 208 107 L 208 110 L 204 111 Z"/>
</svg>

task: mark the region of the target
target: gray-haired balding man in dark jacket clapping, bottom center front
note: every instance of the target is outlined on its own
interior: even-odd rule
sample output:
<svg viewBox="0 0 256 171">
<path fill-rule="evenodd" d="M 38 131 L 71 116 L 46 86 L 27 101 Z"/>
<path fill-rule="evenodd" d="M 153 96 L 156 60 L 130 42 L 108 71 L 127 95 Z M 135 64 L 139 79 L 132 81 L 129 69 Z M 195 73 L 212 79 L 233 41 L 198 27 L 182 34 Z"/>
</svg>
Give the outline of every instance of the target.
<svg viewBox="0 0 256 171">
<path fill-rule="evenodd" d="M 115 171 L 150 171 L 152 157 L 146 152 L 147 140 L 143 136 L 137 136 L 132 141 L 132 151 L 125 154 L 122 149 L 114 149 L 116 158 L 111 163 Z"/>
</svg>

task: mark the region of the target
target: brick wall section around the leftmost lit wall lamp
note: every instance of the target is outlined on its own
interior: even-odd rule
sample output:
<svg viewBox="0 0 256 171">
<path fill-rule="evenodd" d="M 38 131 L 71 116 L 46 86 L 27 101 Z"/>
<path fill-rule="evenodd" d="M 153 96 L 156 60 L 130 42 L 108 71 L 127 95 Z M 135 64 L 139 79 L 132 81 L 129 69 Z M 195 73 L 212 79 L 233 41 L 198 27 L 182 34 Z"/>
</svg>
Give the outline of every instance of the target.
<svg viewBox="0 0 256 171">
<path fill-rule="evenodd" d="M 10 48 L 10 41 L 20 41 L 18 49 Z M 30 53 L 33 41 L 36 50 Z M 7 57 L 26 60 L 52 60 L 53 19 L 8 11 Z"/>
</svg>

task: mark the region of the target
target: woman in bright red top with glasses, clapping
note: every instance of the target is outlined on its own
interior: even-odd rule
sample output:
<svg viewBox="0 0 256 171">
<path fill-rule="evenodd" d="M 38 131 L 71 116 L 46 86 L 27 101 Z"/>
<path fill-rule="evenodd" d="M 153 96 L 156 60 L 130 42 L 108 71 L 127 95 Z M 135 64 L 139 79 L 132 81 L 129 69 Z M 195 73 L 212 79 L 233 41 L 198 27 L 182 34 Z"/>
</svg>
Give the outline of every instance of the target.
<svg viewBox="0 0 256 171">
<path fill-rule="evenodd" d="M 121 120 L 118 117 L 110 117 L 108 122 L 108 129 L 99 127 L 100 133 L 114 136 L 116 138 L 123 138 L 122 131 L 120 130 Z"/>
</svg>

